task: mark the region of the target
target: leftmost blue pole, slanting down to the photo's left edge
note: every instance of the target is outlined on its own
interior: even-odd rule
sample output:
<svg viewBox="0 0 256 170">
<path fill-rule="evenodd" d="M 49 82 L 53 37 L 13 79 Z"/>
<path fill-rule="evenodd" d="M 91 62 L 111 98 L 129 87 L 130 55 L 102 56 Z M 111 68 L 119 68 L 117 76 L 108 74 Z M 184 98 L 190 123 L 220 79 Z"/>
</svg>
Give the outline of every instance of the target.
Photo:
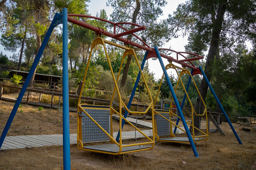
<svg viewBox="0 0 256 170">
<path fill-rule="evenodd" d="M 18 96 L 18 98 L 17 98 L 17 100 L 16 100 L 16 102 L 14 104 L 13 110 L 12 110 L 12 112 L 11 112 L 9 118 L 8 118 L 6 126 L 5 126 L 5 128 L 4 128 L 4 130 L 3 130 L 2 134 L 1 134 L 1 137 L 0 137 L 0 148 L 2 147 L 2 144 L 3 144 L 3 142 L 4 142 L 5 138 L 6 138 L 7 132 L 8 132 L 8 130 L 9 130 L 9 128 L 10 128 L 12 122 L 13 122 L 15 114 L 16 114 L 18 108 L 19 108 L 19 105 L 21 104 L 21 100 L 22 100 L 22 98 L 23 98 L 23 96 L 24 96 L 24 94 L 25 94 L 25 92 L 26 92 L 26 90 L 28 88 L 29 82 L 30 82 L 30 80 L 31 80 L 31 78 L 32 78 L 32 76 L 34 74 L 34 71 L 35 71 L 35 69 L 37 67 L 37 64 L 38 64 L 38 62 L 39 62 L 39 60 L 40 60 L 40 58 L 41 58 L 41 56 L 42 56 L 42 54 L 44 52 L 44 49 L 46 47 L 46 44 L 48 43 L 48 40 L 49 40 L 49 38 L 51 36 L 51 33 L 52 33 L 53 29 L 58 24 L 62 23 L 61 20 L 62 20 L 61 15 L 56 13 L 54 18 L 53 18 L 53 20 L 52 20 L 52 22 L 51 22 L 51 25 L 50 25 L 47 33 L 45 35 L 45 37 L 44 37 L 42 45 L 41 45 L 40 49 L 37 52 L 35 60 L 34 60 L 34 62 L 32 64 L 32 66 L 31 66 L 30 71 L 28 73 L 28 76 L 27 76 L 27 78 L 26 78 L 26 80 L 25 80 L 25 82 L 24 82 L 24 84 L 22 86 L 21 92 L 20 92 L 20 94 L 19 94 L 19 96 Z"/>
</svg>

